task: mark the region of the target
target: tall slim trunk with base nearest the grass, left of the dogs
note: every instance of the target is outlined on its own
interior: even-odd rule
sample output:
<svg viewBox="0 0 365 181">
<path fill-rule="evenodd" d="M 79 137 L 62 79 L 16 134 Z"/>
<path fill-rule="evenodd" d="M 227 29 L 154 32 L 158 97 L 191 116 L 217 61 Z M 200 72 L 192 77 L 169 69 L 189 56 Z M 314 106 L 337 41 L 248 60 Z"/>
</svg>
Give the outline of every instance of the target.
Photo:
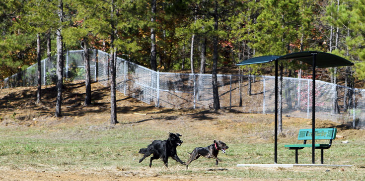
<svg viewBox="0 0 365 181">
<path fill-rule="evenodd" d="M 115 84 L 115 77 L 116 77 L 116 69 L 115 69 L 115 35 L 116 35 L 116 27 L 115 27 L 115 19 L 114 19 L 114 0 L 111 2 L 111 37 L 110 37 L 110 55 L 111 55 L 111 61 L 110 61 L 110 73 L 111 73 L 111 79 L 110 79 L 110 104 L 111 104 L 111 116 L 110 116 L 110 123 L 116 124 L 117 121 L 117 101 L 116 101 L 116 84 Z"/>
</svg>

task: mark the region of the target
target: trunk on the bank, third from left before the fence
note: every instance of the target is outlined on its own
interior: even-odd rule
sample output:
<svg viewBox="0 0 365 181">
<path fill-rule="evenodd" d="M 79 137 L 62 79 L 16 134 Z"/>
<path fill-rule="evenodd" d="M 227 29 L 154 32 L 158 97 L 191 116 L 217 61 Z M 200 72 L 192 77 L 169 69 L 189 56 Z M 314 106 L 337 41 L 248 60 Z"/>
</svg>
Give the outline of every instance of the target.
<svg viewBox="0 0 365 181">
<path fill-rule="evenodd" d="M 84 38 L 83 40 L 83 60 L 85 66 L 85 102 L 84 106 L 91 105 L 91 80 L 90 80 L 90 57 L 89 57 L 89 50 L 87 46 L 88 42 L 87 39 Z"/>
</svg>

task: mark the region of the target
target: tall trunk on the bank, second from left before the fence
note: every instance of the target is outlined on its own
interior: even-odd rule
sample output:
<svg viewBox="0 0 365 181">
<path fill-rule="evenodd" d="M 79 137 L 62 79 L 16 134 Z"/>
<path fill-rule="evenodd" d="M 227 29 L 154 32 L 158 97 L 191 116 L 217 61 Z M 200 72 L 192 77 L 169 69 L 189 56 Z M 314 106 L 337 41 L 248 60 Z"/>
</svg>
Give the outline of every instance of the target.
<svg viewBox="0 0 365 181">
<path fill-rule="evenodd" d="M 61 23 L 64 22 L 64 4 L 62 0 L 59 0 L 59 11 Z M 61 104 L 62 104 L 62 86 L 63 86 L 63 74 L 64 74 L 64 49 L 63 49 L 63 37 L 62 37 L 62 25 L 56 30 L 57 36 L 57 98 L 56 98 L 56 117 L 61 117 Z"/>
</svg>

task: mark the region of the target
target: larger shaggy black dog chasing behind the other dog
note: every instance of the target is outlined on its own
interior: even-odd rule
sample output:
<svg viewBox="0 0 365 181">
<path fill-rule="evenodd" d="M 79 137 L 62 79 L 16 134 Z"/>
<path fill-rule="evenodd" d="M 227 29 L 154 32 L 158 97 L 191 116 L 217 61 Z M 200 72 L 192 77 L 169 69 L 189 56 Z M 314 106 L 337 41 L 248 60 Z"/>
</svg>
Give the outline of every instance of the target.
<svg viewBox="0 0 365 181">
<path fill-rule="evenodd" d="M 181 134 L 174 134 L 170 132 L 168 139 L 163 141 L 154 140 L 151 144 L 147 146 L 147 148 L 140 149 L 140 153 L 145 155 L 141 158 L 139 163 L 141 163 L 149 155 L 153 154 L 149 161 L 149 167 L 151 167 L 152 165 L 152 160 L 159 158 L 162 158 L 163 163 L 167 167 L 168 157 L 172 157 L 174 160 L 184 165 L 185 163 L 182 162 L 176 154 L 176 147 L 182 144 L 179 136 L 181 136 Z"/>
</svg>

